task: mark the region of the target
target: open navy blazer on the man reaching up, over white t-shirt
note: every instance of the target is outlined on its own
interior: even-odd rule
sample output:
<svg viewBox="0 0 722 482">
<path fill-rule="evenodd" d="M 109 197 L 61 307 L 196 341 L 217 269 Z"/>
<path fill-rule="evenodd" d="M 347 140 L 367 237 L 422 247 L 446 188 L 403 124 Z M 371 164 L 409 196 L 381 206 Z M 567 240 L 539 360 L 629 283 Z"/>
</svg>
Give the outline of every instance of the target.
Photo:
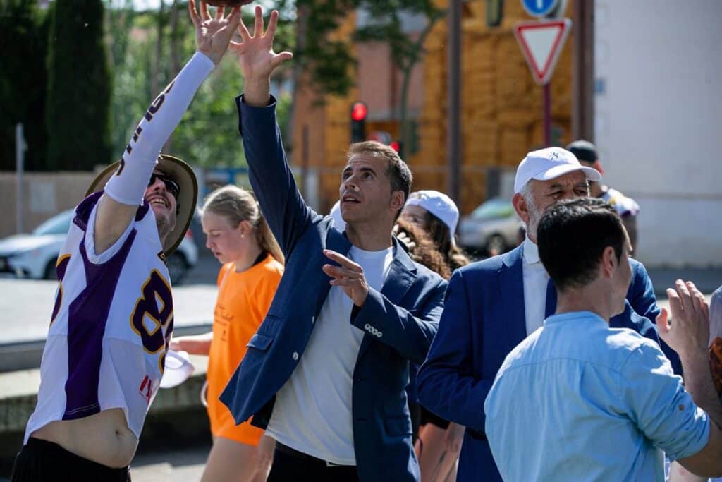
<svg viewBox="0 0 722 482">
<path fill-rule="evenodd" d="M 236 98 L 251 186 L 286 257 L 268 314 L 248 343 L 220 400 L 236 423 L 265 428 L 276 393 L 298 364 L 329 281 L 323 249 L 347 254 L 351 244 L 331 221 L 305 204 L 283 149 L 275 101 L 265 108 Z M 340 182 L 340 175 L 339 175 Z M 370 289 L 349 322 L 365 331 L 353 373 L 354 449 L 361 481 L 417 481 L 404 389 L 409 360 L 422 363 L 438 329 L 447 283 L 412 261 L 393 238 L 393 262 L 381 291 Z"/>
</svg>

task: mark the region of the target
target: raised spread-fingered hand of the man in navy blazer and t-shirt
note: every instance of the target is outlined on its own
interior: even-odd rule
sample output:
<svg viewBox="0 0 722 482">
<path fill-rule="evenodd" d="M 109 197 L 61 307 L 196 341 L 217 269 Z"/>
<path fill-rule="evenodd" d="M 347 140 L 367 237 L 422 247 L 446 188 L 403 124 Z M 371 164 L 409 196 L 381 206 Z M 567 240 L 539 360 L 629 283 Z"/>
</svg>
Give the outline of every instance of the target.
<svg viewBox="0 0 722 482">
<path fill-rule="evenodd" d="M 243 73 L 246 83 L 256 79 L 267 82 L 271 72 L 282 62 L 293 57 L 287 51 L 275 53 L 273 51 L 273 40 L 278 25 L 278 11 L 271 12 L 268 28 L 264 32 L 263 9 L 256 6 L 256 19 L 253 23 L 253 35 L 248 32 L 243 20 L 238 24 L 238 33 L 243 42 L 232 42 L 232 48 L 238 53 L 240 71 Z"/>
</svg>

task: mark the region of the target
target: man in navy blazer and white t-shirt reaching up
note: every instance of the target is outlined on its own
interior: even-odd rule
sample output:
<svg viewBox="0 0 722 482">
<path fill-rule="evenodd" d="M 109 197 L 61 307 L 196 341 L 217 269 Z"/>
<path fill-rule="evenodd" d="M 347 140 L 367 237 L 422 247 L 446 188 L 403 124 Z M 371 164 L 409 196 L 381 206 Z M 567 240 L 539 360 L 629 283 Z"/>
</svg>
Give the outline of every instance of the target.
<svg viewBox="0 0 722 482">
<path fill-rule="evenodd" d="M 303 201 L 269 92 L 278 14 L 261 35 L 240 27 L 245 92 L 236 99 L 249 176 L 286 257 L 269 312 L 221 400 L 238 423 L 277 441 L 269 481 L 418 481 L 404 389 L 438 329 L 445 281 L 391 236 L 411 172 L 390 147 L 349 149 L 341 210 L 347 227 Z M 259 30 L 260 25 L 260 30 Z"/>
</svg>

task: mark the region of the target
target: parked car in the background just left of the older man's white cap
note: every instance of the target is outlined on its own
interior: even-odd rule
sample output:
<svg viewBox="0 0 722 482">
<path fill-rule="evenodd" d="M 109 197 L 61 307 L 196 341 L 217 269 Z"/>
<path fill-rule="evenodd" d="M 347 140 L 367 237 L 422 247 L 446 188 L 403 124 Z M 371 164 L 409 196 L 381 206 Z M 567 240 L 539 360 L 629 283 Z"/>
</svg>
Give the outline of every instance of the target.
<svg viewBox="0 0 722 482">
<path fill-rule="evenodd" d="M 459 244 L 471 251 L 501 254 L 517 246 L 520 227 L 511 202 L 495 197 L 461 218 Z"/>
</svg>

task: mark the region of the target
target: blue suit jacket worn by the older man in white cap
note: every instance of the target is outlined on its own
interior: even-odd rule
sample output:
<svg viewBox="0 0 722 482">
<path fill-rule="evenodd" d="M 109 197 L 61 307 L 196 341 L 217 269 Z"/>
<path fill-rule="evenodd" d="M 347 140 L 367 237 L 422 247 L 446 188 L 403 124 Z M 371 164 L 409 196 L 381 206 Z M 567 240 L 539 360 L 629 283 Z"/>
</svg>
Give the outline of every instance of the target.
<svg viewBox="0 0 722 482">
<path fill-rule="evenodd" d="M 656 327 L 640 316 L 654 319 L 659 312 L 651 280 L 640 262 L 631 259 L 630 264 L 625 312 L 609 324 L 659 343 Z M 504 358 L 526 337 L 522 265 L 519 246 L 454 272 L 439 332 L 419 370 L 419 403 L 466 427 L 456 479 L 460 482 L 502 480 L 484 436 L 484 400 Z M 556 309 L 556 291 L 547 294 L 550 314 Z"/>
</svg>

